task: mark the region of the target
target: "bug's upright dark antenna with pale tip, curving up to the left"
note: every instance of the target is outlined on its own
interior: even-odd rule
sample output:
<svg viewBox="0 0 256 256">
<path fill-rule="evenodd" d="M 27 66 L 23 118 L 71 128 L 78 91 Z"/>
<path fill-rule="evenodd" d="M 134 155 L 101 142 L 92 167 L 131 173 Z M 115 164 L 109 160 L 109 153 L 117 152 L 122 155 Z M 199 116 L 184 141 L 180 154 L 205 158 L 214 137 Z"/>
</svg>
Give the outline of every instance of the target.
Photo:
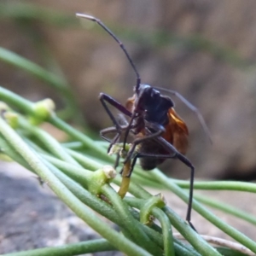
<svg viewBox="0 0 256 256">
<path fill-rule="evenodd" d="M 92 21 L 95 21 L 98 25 L 102 26 L 102 28 L 108 32 L 108 34 L 119 44 L 119 47 L 124 51 L 128 61 L 130 62 L 131 64 L 131 67 L 132 69 L 134 70 L 134 72 L 136 73 L 136 77 L 137 77 L 137 84 L 136 84 L 136 87 L 135 87 L 135 90 L 137 92 L 137 90 L 139 90 L 139 87 L 140 87 L 140 84 L 141 84 L 141 78 L 140 78 L 140 74 L 138 73 L 137 71 L 137 67 L 135 66 L 134 62 L 131 60 L 131 56 L 128 54 L 127 50 L 125 49 L 125 45 L 119 40 L 119 38 L 117 38 L 113 32 L 108 28 L 108 26 L 104 25 L 104 23 L 93 17 L 93 16 L 90 16 L 90 15 L 84 15 L 84 14 L 76 14 L 77 17 L 79 18 L 84 18 L 84 19 L 87 19 L 87 20 L 92 20 Z"/>
</svg>

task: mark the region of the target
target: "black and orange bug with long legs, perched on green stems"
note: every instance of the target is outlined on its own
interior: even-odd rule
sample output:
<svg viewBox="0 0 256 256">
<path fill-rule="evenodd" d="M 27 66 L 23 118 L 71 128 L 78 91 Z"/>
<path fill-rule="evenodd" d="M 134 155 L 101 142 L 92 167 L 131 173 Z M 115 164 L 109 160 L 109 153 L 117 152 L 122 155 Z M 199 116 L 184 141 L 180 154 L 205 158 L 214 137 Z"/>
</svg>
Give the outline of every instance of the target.
<svg viewBox="0 0 256 256">
<path fill-rule="evenodd" d="M 189 187 L 189 203 L 186 220 L 189 225 L 195 230 L 191 223 L 191 210 L 193 200 L 193 184 L 195 167 L 184 156 L 188 149 L 189 130 L 183 119 L 181 119 L 174 110 L 174 103 L 171 97 L 160 94 L 160 90 L 166 91 L 173 96 L 177 96 L 184 104 L 194 111 L 208 137 L 211 140 L 207 125 L 201 116 L 201 113 L 188 102 L 182 95 L 174 90 L 160 89 L 152 87 L 148 84 L 141 84 L 141 78 L 137 71 L 137 67 L 131 60 L 131 56 L 125 49 L 124 44 L 119 41 L 113 32 L 105 26 L 101 20 L 96 19 L 90 15 L 77 14 L 78 17 L 87 20 L 95 21 L 98 25 L 108 32 L 108 34 L 119 44 L 119 47 L 125 53 L 132 69 L 137 76 L 137 84 L 134 87 L 134 95 L 128 99 L 126 105 L 117 102 L 113 97 L 105 93 L 101 93 L 99 98 L 105 108 L 108 116 L 113 121 L 113 127 L 108 127 L 101 131 L 101 136 L 110 143 L 108 151 L 116 143 L 122 133 L 125 134 L 123 148 L 127 143 L 129 134 L 133 134 L 135 139 L 131 143 L 131 148 L 125 155 L 124 169 L 125 175 L 123 177 L 130 177 L 131 172 L 136 164 L 137 159 L 140 159 L 140 164 L 143 170 L 152 170 L 154 167 L 160 165 L 164 160 L 170 158 L 177 158 L 183 164 L 190 168 L 190 187 Z M 119 120 L 113 116 L 113 113 L 108 108 L 108 104 L 113 108 L 117 108 L 120 113 L 123 113 L 130 120 L 125 125 L 121 125 Z M 113 139 L 106 137 L 108 133 L 115 132 Z M 127 170 L 128 168 L 128 170 Z"/>
</svg>

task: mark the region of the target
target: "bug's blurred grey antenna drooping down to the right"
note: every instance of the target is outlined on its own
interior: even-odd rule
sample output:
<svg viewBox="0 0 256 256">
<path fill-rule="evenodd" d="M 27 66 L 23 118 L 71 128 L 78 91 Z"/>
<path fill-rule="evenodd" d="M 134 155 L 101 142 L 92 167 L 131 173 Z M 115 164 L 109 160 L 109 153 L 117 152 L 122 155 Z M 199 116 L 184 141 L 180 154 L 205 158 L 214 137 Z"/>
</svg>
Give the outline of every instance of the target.
<svg viewBox="0 0 256 256">
<path fill-rule="evenodd" d="M 203 128 L 203 130 L 205 131 L 210 143 L 212 144 L 212 136 L 211 136 L 211 132 L 209 131 L 208 127 L 207 127 L 207 124 L 206 124 L 206 121 L 205 119 L 203 118 L 203 116 L 201 115 L 201 112 L 198 110 L 198 108 L 195 108 L 195 106 L 193 104 L 191 104 L 186 98 L 184 98 L 180 93 L 178 93 L 176 90 L 169 90 L 169 89 L 166 89 L 166 88 L 161 88 L 161 87 L 155 87 L 155 89 L 157 90 L 162 90 L 162 91 L 166 91 L 166 92 L 169 92 L 171 95 L 173 96 L 177 96 L 177 98 L 183 102 L 188 108 L 190 108 L 197 116 L 200 124 L 201 124 L 201 127 Z"/>
</svg>

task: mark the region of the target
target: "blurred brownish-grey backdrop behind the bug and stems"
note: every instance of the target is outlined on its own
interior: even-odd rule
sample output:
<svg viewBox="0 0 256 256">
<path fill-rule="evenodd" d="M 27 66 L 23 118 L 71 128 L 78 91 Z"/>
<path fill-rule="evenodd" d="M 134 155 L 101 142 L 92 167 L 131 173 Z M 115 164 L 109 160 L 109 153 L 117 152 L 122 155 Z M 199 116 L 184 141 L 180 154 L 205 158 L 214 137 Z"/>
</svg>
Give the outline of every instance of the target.
<svg viewBox="0 0 256 256">
<path fill-rule="evenodd" d="M 42 18 L 25 5 L 31 3 L 49 16 Z M 95 15 L 113 30 L 136 62 L 143 83 L 177 90 L 201 110 L 212 145 L 195 114 L 173 98 L 177 113 L 189 126 L 187 155 L 197 178 L 255 177 L 255 1 L 0 0 L 0 4 L 0 46 L 47 68 L 50 55 L 72 84 L 91 130 L 98 133 L 112 125 L 99 93 L 125 103 L 136 80 L 113 38 L 96 24 L 75 18 L 76 12 Z M 58 12 L 67 15 L 65 22 L 58 22 Z M 51 97 L 59 102 L 49 86 L 2 61 L 0 84 L 33 101 Z M 161 167 L 173 177 L 189 177 L 189 169 L 178 161 L 168 160 Z"/>
</svg>

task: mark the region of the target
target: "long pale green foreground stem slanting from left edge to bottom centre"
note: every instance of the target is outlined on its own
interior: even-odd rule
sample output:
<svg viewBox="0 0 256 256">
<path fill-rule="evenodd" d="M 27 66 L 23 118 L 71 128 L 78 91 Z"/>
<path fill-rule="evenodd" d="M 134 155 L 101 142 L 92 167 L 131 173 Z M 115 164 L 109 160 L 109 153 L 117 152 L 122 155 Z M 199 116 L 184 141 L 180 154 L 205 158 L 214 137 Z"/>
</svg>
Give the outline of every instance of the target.
<svg viewBox="0 0 256 256">
<path fill-rule="evenodd" d="M 85 207 L 77 197 L 71 193 L 55 175 L 49 171 L 49 168 L 38 158 L 38 155 L 32 152 L 30 148 L 24 143 L 20 137 L 0 118 L 0 132 L 3 137 L 9 141 L 13 148 L 26 160 L 29 166 L 37 172 L 38 176 L 44 181 L 47 181 L 49 187 L 55 194 L 67 204 L 67 207 L 75 212 L 79 218 L 82 218 L 90 225 L 96 232 L 100 233 L 111 244 L 117 247 L 120 251 L 128 255 L 149 255 L 143 248 L 138 247 L 135 243 L 127 240 L 119 233 L 111 229 L 108 224 L 105 224 L 100 218 L 96 217 L 95 212 L 90 208 Z"/>
</svg>

